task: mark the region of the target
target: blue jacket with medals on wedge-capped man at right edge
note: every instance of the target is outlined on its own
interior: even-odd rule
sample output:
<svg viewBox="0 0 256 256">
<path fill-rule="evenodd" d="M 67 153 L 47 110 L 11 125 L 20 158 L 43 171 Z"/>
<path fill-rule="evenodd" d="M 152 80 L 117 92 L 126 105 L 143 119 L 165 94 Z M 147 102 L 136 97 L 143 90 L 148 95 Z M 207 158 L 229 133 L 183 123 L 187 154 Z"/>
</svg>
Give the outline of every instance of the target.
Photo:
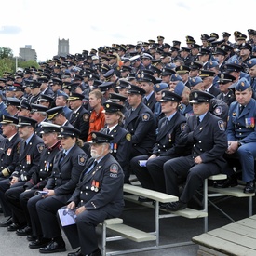
<svg viewBox="0 0 256 256">
<path fill-rule="evenodd" d="M 237 101 L 232 102 L 227 123 L 228 141 L 256 142 L 255 116 L 256 101 L 254 99 L 250 99 L 240 115 L 239 103 Z"/>
</svg>

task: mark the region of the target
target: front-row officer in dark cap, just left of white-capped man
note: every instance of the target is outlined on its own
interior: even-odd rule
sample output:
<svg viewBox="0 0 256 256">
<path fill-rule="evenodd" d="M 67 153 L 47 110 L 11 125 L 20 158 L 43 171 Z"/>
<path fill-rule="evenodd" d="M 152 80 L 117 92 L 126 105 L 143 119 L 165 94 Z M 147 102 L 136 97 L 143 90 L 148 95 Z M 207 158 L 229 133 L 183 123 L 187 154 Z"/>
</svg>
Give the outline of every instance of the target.
<svg viewBox="0 0 256 256">
<path fill-rule="evenodd" d="M 0 201 L 2 209 L 10 214 L 10 209 L 7 205 L 5 192 L 9 187 L 23 186 L 34 173 L 39 163 L 40 154 L 44 150 L 44 143 L 42 139 L 34 133 L 36 121 L 32 118 L 20 116 L 19 117 L 19 135 L 22 141 L 18 146 L 19 159 L 15 164 L 15 169 L 11 173 L 10 180 L 3 180 L 0 182 Z M 14 150 L 14 149 L 13 149 Z M 19 220 L 7 227 L 8 231 L 15 231 L 21 227 L 23 223 Z"/>
</svg>

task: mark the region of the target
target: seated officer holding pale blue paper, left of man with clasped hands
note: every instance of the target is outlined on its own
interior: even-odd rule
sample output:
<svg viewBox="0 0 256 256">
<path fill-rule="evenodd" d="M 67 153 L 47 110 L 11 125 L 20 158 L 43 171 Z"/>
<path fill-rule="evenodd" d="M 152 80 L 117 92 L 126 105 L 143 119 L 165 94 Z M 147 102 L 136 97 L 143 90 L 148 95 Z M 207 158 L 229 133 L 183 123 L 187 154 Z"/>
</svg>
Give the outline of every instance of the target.
<svg viewBox="0 0 256 256">
<path fill-rule="evenodd" d="M 181 100 L 178 94 L 162 90 L 159 102 L 166 117 L 159 121 L 153 154 L 131 159 L 131 168 L 144 188 L 165 193 L 164 163 L 170 158 L 185 155 L 185 148 L 180 146 L 180 135 L 186 123 L 186 118 L 178 111 Z"/>
</svg>

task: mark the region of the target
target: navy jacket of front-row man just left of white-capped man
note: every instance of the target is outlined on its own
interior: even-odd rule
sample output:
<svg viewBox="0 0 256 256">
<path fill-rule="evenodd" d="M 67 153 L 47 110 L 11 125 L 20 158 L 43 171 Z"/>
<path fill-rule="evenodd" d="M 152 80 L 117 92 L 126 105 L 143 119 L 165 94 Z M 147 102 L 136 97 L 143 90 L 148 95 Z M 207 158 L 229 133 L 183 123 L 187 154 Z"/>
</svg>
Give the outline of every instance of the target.
<svg viewBox="0 0 256 256">
<path fill-rule="evenodd" d="M 13 176 L 19 177 L 19 182 L 26 182 L 30 180 L 39 164 L 40 155 L 44 148 L 45 145 L 43 140 L 35 133 L 28 145 L 25 146 L 24 140 L 20 142 L 18 164 L 16 165 L 15 171 L 12 173 Z"/>
</svg>

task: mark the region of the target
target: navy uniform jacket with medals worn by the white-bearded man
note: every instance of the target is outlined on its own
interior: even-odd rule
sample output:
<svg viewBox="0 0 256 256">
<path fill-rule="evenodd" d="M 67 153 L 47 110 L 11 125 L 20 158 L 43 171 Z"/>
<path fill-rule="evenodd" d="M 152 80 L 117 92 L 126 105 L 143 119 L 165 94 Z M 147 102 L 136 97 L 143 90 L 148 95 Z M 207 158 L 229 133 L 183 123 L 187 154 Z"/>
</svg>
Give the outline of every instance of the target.
<svg viewBox="0 0 256 256">
<path fill-rule="evenodd" d="M 85 173 L 93 161 L 94 158 L 88 160 L 68 202 L 74 201 L 76 206 L 85 206 L 87 210 L 104 208 L 112 216 L 119 216 L 124 206 L 123 170 L 115 157 L 107 154 L 92 170 Z"/>
</svg>

